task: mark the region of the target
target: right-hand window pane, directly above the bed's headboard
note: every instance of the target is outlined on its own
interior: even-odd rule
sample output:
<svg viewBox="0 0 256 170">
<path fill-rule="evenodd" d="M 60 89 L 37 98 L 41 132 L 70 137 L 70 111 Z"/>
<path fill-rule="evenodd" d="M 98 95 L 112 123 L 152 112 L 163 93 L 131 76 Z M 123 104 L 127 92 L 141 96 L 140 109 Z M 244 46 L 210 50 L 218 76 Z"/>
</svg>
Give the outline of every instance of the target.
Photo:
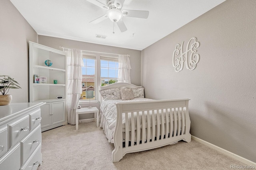
<svg viewBox="0 0 256 170">
<path fill-rule="evenodd" d="M 101 86 L 106 86 L 117 82 L 118 78 L 118 60 L 106 59 L 100 60 L 100 80 Z"/>
</svg>

